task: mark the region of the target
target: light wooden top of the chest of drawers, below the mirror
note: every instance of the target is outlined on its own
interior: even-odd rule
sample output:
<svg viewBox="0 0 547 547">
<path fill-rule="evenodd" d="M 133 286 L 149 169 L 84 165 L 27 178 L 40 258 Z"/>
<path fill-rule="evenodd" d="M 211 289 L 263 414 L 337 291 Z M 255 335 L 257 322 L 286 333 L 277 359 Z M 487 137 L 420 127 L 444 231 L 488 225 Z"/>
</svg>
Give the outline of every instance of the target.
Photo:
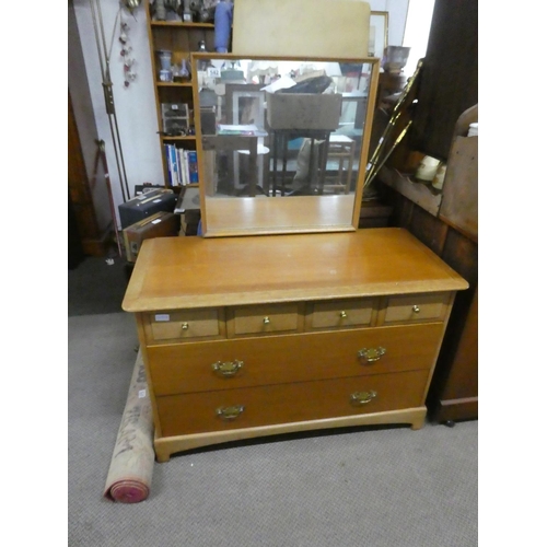
<svg viewBox="0 0 547 547">
<path fill-rule="evenodd" d="M 467 289 L 409 232 L 199 236 L 146 240 L 126 312 Z"/>
</svg>

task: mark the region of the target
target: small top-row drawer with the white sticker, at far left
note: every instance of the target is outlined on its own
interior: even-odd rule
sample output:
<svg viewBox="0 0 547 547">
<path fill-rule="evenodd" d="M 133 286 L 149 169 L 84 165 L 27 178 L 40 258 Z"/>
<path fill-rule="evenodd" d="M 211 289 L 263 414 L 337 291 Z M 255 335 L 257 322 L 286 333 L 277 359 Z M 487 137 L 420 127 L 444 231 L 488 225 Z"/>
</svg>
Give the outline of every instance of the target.
<svg viewBox="0 0 547 547">
<path fill-rule="evenodd" d="M 144 319 L 147 339 L 151 342 L 218 337 L 221 317 L 217 309 L 151 313 Z"/>
</svg>

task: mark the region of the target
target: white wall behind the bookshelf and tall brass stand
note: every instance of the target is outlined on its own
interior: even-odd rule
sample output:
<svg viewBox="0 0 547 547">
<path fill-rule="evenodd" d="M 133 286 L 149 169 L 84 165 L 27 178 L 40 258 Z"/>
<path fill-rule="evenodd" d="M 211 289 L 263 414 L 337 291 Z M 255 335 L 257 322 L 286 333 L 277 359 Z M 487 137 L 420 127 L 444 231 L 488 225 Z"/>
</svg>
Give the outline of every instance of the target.
<svg viewBox="0 0 547 547">
<path fill-rule="evenodd" d="M 108 115 L 106 114 L 104 104 L 103 80 L 93 30 L 92 10 L 90 0 L 73 1 L 98 138 L 103 139 L 106 143 L 108 170 L 117 212 L 117 206 L 124 202 L 124 199 Z M 333 0 L 333 2 L 337 0 Z M 235 0 L 236 2 L 237 0 Z M 401 45 L 409 0 L 371 0 L 369 3 L 372 11 L 388 12 L 389 45 Z M 110 55 L 110 75 L 121 152 L 125 160 L 130 197 L 132 197 L 135 185 L 137 184 L 146 182 L 163 184 L 162 158 L 156 135 L 159 128 L 155 115 L 154 81 L 152 79 L 147 18 L 143 5 L 135 11 L 135 19 L 128 15 L 127 12 L 124 15 L 130 26 L 128 36 L 132 47 L 131 55 L 135 58 L 135 71 L 137 72 L 136 81 L 126 89 L 124 86 L 123 58 L 119 55 L 119 32 L 114 26 L 119 9 L 119 1 L 100 0 L 100 5 L 108 47 L 113 32 L 116 32 Z"/>
</svg>

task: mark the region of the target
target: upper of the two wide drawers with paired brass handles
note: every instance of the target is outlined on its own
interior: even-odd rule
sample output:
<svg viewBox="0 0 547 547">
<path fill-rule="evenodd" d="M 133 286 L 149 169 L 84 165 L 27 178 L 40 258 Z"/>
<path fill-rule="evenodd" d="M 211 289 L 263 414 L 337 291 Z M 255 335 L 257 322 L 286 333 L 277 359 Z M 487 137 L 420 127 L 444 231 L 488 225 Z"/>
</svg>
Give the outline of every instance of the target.
<svg viewBox="0 0 547 547">
<path fill-rule="evenodd" d="M 442 323 L 149 347 L 155 395 L 429 370 Z"/>
</svg>

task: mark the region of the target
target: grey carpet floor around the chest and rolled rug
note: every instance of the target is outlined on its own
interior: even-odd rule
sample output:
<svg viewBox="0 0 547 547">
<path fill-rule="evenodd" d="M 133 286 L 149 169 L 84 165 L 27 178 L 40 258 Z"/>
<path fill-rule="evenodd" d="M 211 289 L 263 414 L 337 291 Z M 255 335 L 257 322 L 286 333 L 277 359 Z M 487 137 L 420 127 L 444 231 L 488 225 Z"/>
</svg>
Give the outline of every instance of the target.
<svg viewBox="0 0 547 547">
<path fill-rule="evenodd" d="M 103 489 L 137 358 L 125 313 L 68 318 L 68 545 L 470 547 L 478 422 L 360 428 L 178 454 L 151 493 Z"/>
</svg>

